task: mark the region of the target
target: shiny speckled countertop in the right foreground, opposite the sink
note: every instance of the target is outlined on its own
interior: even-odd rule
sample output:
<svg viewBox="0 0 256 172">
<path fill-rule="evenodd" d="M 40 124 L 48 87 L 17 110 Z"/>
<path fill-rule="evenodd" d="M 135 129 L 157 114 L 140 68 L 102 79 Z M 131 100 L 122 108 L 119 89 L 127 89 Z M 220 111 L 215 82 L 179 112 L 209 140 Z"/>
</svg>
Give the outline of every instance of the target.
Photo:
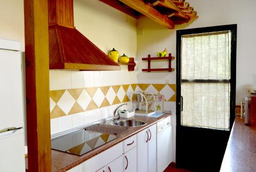
<svg viewBox="0 0 256 172">
<path fill-rule="evenodd" d="M 236 117 L 229 136 L 220 172 L 256 171 L 256 127 Z"/>
</svg>

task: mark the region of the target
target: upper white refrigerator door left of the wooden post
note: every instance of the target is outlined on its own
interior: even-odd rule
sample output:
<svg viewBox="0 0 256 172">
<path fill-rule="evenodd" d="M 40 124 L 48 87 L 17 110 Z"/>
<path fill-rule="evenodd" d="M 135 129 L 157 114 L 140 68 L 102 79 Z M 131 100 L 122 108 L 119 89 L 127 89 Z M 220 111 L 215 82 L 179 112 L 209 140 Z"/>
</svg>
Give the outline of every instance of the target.
<svg viewBox="0 0 256 172">
<path fill-rule="evenodd" d="M 22 62 L 19 52 L 0 50 L 0 78 L 0 130 L 23 127 Z"/>
</svg>

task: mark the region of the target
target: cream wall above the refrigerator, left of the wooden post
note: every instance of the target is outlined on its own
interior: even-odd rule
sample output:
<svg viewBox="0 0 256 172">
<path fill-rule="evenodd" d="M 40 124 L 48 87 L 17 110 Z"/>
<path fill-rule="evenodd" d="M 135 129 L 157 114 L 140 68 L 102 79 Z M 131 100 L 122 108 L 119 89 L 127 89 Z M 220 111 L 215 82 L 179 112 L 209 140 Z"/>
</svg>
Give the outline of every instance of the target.
<svg viewBox="0 0 256 172">
<path fill-rule="evenodd" d="M 0 38 L 20 41 L 25 50 L 23 0 L 0 0 Z"/>
</svg>

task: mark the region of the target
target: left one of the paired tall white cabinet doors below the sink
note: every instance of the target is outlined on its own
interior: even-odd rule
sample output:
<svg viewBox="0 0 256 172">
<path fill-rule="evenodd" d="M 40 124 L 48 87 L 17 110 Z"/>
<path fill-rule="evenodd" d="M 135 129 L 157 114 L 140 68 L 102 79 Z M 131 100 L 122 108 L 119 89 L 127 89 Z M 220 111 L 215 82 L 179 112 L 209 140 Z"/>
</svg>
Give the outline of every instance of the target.
<svg viewBox="0 0 256 172">
<path fill-rule="evenodd" d="M 149 136 L 147 129 L 137 134 L 137 171 L 147 171 L 147 142 Z"/>
</svg>

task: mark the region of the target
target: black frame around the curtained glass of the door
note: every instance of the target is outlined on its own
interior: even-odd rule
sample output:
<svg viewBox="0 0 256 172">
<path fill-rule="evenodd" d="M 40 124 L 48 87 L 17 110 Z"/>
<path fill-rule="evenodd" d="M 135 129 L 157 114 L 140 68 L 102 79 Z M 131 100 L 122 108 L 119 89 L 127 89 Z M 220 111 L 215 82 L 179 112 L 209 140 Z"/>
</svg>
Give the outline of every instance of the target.
<svg viewBox="0 0 256 172">
<path fill-rule="evenodd" d="M 229 131 L 227 134 L 230 134 L 232 129 L 233 121 L 235 118 L 235 108 L 236 108 L 236 54 L 237 54 L 237 24 L 230 24 L 224 26 L 215 26 L 215 27 L 205 27 L 205 28 L 195 28 L 195 29 L 186 29 L 177 31 L 177 43 L 176 43 L 176 84 L 177 84 L 177 98 L 176 98 L 176 162 L 179 167 L 179 148 L 180 145 L 180 134 L 183 126 L 181 126 L 181 37 L 182 35 L 188 34 L 199 34 L 206 32 L 218 32 L 218 31 L 231 31 L 231 59 L 230 59 L 230 121 L 229 121 Z M 192 128 L 191 128 L 192 129 Z M 192 130 L 200 130 L 200 128 L 194 128 Z M 208 129 L 211 130 L 211 129 Z M 181 148 L 179 148 L 181 149 Z"/>
</svg>

